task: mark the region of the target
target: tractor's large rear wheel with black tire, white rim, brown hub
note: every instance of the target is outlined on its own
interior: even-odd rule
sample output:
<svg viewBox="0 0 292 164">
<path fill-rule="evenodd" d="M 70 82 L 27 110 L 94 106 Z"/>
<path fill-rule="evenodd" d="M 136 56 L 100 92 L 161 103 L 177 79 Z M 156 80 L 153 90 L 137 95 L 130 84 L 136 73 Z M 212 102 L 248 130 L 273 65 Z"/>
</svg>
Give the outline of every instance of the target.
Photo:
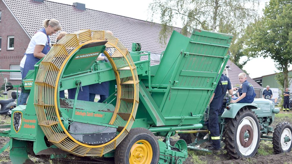
<svg viewBox="0 0 292 164">
<path fill-rule="evenodd" d="M 260 127 L 255 112 L 247 107 L 241 108 L 235 118 L 226 119 L 224 129 L 223 135 L 225 138 L 223 142 L 227 154 L 231 158 L 253 157 L 257 154 L 260 142 Z M 245 135 L 248 135 L 248 137 Z"/>
</svg>

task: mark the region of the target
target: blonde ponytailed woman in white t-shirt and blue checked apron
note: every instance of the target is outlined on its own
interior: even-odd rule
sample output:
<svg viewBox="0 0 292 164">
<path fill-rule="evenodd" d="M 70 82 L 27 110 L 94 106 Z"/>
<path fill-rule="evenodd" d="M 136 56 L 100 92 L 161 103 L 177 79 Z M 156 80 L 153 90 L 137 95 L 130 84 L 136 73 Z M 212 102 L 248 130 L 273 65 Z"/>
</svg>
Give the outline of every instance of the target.
<svg viewBox="0 0 292 164">
<path fill-rule="evenodd" d="M 49 52 L 51 47 L 50 36 L 62 29 L 60 22 L 56 19 L 46 19 L 43 26 L 44 28 L 41 28 L 32 36 L 24 57 L 20 62 L 22 79 L 26 77 L 29 70 L 34 70 L 34 65 Z M 29 93 L 21 91 L 18 105 L 25 104 L 28 96 Z"/>
</svg>

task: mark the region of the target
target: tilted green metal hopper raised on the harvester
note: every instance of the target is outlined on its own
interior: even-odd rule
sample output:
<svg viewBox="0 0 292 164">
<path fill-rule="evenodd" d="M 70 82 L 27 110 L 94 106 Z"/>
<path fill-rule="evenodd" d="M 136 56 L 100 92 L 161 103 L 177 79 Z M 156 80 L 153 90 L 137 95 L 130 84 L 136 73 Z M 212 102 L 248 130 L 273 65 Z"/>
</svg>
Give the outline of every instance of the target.
<svg viewBox="0 0 292 164">
<path fill-rule="evenodd" d="M 153 99 L 167 120 L 166 125 L 176 125 L 178 121 L 183 124 L 200 121 L 200 117 L 192 117 L 191 112 L 202 114 L 206 109 L 216 80 L 219 80 L 220 68 L 228 60 L 231 35 L 195 30 L 191 38 L 173 32 L 152 82 L 157 86 L 168 85 L 166 94 L 152 92 Z M 171 58 L 168 55 L 172 55 Z M 165 71 L 168 69 L 170 71 Z"/>
</svg>

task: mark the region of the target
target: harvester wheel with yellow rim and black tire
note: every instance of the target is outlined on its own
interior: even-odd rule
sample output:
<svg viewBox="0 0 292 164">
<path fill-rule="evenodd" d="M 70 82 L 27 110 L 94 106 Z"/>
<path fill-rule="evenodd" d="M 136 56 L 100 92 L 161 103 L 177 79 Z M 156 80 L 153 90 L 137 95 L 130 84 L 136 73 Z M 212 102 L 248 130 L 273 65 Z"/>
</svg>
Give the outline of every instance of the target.
<svg viewBox="0 0 292 164">
<path fill-rule="evenodd" d="M 159 145 L 152 132 L 133 128 L 115 150 L 115 164 L 157 164 Z"/>
</svg>

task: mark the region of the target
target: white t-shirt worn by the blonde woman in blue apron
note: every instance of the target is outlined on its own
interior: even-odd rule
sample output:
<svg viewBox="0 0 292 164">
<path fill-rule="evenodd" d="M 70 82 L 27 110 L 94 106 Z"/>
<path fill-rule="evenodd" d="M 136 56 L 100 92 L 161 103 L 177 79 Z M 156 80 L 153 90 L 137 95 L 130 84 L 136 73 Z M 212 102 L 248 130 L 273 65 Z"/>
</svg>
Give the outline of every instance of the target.
<svg viewBox="0 0 292 164">
<path fill-rule="evenodd" d="M 50 37 L 50 36 L 49 36 Z M 34 47 L 35 45 L 46 45 L 48 44 L 48 38 L 46 36 L 46 34 L 44 34 L 43 32 L 39 31 L 36 34 L 34 34 L 34 36 L 32 36 L 30 42 L 29 42 L 29 46 L 26 49 L 26 54 L 31 54 L 34 53 Z M 49 43 L 50 44 L 50 43 Z M 26 55 L 23 56 L 21 62 L 20 62 L 20 67 L 24 67 L 24 63 L 26 60 Z"/>
</svg>

